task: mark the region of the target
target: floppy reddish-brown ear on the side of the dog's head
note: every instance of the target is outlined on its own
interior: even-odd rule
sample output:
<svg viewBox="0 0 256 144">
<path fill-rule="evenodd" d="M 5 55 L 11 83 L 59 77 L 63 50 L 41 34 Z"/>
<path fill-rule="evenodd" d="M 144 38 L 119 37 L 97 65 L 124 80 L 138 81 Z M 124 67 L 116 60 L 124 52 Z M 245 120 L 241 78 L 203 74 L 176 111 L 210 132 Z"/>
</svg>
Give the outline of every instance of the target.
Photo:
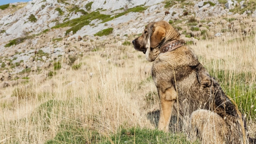
<svg viewBox="0 0 256 144">
<path fill-rule="evenodd" d="M 165 38 L 165 32 L 165 28 L 163 28 L 162 26 L 153 26 L 150 47 L 157 47 L 159 43 L 162 42 L 162 40 Z"/>
</svg>

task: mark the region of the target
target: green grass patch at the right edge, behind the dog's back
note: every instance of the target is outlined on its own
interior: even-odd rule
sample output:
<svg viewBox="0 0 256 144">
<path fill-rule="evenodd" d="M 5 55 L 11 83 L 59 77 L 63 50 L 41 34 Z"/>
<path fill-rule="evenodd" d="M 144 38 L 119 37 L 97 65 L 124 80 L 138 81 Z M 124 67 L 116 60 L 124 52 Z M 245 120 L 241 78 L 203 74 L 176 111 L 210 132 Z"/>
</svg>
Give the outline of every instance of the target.
<svg viewBox="0 0 256 144">
<path fill-rule="evenodd" d="M 219 64 L 223 64 L 222 60 L 219 60 Z M 256 85 L 247 85 L 247 80 L 252 77 L 251 72 L 235 73 L 234 71 L 209 70 L 209 73 L 214 76 L 221 87 L 224 89 L 226 95 L 234 98 L 234 101 L 238 104 L 242 113 L 246 114 L 247 118 L 256 118 L 255 108 L 251 108 L 252 105 L 256 106 Z M 232 75 L 232 77 L 230 77 Z"/>
</svg>

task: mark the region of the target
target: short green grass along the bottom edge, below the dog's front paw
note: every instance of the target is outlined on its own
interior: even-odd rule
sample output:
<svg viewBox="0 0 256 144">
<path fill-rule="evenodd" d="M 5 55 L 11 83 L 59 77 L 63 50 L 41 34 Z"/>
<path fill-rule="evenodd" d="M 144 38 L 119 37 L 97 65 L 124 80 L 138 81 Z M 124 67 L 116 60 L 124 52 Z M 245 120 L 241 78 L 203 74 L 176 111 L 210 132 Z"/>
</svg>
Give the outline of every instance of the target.
<svg viewBox="0 0 256 144">
<path fill-rule="evenodd" d="M 96 130 L 90 130 L 81 127 L 78 124 L 61 124 L 54 139 L 47 141 L 45 144 L 187 144 L 191 143 L 186 140 L 183 134 L 165 133 L 160 130 L 148 128 L 119 128 L 115 134 L 110 134 L 109 139 L 99 134 Z M 192 144 L 199 144 L 196 141 Z"/>
</svg>

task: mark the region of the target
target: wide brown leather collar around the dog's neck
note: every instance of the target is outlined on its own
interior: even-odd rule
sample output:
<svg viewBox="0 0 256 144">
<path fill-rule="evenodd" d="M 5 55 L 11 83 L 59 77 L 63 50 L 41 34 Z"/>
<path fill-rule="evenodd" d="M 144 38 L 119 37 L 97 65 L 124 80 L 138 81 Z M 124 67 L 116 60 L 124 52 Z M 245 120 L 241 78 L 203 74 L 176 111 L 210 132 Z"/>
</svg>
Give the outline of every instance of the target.
<svg viewBox="0 0 256 144">
<path fill-rule="evenodd" d="M 162 53 L 165 53 L 167 51 L 170 52 L 170 51 L 175 50 L 178 47 L 181 47 L 183 45 L 185 45 L 185 41 L 184 40 L 173 40 L 173 41 L 165 44 L 164 46 L 162 46 L 159 50 Z"/>
</svg>

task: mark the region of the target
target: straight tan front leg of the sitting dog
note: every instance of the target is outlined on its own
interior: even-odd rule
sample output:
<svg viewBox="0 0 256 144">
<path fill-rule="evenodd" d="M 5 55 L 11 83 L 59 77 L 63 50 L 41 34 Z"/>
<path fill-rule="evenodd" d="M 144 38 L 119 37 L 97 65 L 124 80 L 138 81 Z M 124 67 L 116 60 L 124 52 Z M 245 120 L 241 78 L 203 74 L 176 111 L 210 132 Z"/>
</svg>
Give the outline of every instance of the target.
<svg viewBox="0 0 256 144">
<path fill-rule="evenodd" d="M 158 90 L 158 92 L 161 101 L 158 129 L 167 132 L 172 115 L 172 106 L 177 94 L 174 88 L 168 88 L 165 91 Z"/>
</svg>

